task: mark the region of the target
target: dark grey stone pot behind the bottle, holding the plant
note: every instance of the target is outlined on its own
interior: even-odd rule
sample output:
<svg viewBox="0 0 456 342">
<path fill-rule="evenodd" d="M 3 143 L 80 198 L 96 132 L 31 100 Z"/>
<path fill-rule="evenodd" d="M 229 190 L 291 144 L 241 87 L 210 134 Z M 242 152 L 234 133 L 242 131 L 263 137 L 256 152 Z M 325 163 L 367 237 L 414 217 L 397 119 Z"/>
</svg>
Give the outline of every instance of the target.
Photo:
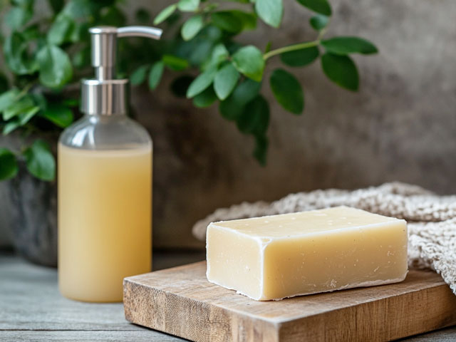
<svg viewBox="0 0 456 342">
<path fill-rule="evenodd" d="M 23 143 L 23 142 L 22 142 Z M 19 150 L 16 137 L 4 138 L 1 145 Z M 9 229 L 16 251 L 24 258 L 44 266 L 57 266 L 56 182 L 43 182 L 30 175 L 25 162 L 19 173 L 0 182 L 0 223 Z"/>
</svg>

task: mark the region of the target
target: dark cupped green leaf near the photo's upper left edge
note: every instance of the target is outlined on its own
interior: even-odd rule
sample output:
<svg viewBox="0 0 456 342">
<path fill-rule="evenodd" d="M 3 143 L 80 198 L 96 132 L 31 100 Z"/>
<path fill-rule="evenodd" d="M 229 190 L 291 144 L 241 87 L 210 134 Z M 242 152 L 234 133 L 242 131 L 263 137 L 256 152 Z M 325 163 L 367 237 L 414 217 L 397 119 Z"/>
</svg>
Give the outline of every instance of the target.
<svg viewBox="0 0 456 342">
<path fill-rule="evenodd" d="M 18 75 L 26 75 L 36 71 L 38 65 L 28 55 L 28 41 L 21 33 L 13 32 L 4 42 L 5 61 L 10 70 Z"/>
</svg>

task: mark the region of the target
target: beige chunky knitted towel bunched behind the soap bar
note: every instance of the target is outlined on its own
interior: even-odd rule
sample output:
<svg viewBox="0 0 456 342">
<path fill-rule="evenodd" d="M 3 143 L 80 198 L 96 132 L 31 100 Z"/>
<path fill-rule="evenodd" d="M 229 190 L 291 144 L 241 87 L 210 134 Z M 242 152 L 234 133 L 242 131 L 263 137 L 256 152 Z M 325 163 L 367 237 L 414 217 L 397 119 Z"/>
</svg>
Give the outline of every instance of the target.
<svg viewBox="0 0 456 342">
<path fill-rule="evenodd" d="M 393 182 L 355 191 L 299 192 L 271 203 L 244 202 L 217 209 L 195 224 L 193 234 L 204 240 L 210 222 L 338 205 L 407 220 L 410 268 L 434 269 L 456 294 L 456 196 L 437 196 L 415 185 Z"/>
</svg>

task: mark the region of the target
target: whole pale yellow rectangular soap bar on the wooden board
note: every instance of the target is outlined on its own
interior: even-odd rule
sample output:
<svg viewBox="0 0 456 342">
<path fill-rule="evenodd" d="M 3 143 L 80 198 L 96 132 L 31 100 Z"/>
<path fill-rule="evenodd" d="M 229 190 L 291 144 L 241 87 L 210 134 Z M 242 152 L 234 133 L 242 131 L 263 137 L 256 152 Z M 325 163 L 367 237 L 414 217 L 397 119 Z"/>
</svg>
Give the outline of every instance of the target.
<svg viewBox="0 0 456 342">
<path fill-rule="evenodd" d="M 351 207 L 215 222 L 207 280 L 257 301 L 403 281 L 407 224 Z"/>
</svg>

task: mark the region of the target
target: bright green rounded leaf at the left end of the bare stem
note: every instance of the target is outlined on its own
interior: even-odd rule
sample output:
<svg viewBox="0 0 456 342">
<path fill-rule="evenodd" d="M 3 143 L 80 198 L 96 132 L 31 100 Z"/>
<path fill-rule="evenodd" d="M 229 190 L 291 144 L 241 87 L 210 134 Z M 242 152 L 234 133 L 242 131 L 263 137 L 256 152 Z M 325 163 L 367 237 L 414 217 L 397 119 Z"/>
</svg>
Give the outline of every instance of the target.
<svg viewBox="0 0 456 342">
<path fill-rule="evenodd" d="M 233 55 L 237 70 L 254 81 L 261 81 L 264 71 L 263 53 L 256 46 L 244 46 Z"/>
</svg>

